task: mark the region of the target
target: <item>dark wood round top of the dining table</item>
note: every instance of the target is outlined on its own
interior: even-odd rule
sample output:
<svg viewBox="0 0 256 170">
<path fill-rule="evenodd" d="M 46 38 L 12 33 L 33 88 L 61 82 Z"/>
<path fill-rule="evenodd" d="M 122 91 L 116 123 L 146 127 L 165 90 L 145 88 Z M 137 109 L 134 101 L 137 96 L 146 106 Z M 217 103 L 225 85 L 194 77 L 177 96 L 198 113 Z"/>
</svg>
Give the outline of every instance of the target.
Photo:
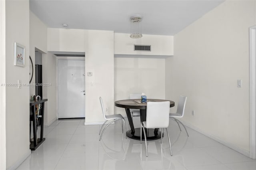
<svg viewBox="0 0 256 170">
<path fill-rule="evenodd" d="M 163 99 L 147 99 L 147 102 L 159 102 L 159 101 L 170 101 Z M 147 103 L 139 103 L 140 99 L 126 99 L 126 100 L 118 100 L 115 101 L 116 107 L 122 107 L 126 109 L 146 109 Z M 174 107 L 174 101 L 170 101 L 170 107 Z"/>
</svg>

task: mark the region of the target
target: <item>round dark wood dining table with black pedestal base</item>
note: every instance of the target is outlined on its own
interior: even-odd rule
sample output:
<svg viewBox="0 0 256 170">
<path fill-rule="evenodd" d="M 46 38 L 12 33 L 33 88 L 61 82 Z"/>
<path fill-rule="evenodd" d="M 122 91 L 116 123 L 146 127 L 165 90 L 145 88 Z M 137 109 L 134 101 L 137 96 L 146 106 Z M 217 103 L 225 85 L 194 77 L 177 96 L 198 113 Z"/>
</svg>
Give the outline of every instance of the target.
<svg viewBox="0 0 256 170">
<path fill-rule="evenodd" d="M 160 101 L 170 101 L 163 99 L 147 99 L 147 102 L 160 102 Z M 174 107 L 174 101 L 170 101 L 170 107 Z M 132 115 L 130 113 L 130 109 L 140 109 L 140 121 L 146 121 L 146 109 L 147 103 L 142 103 L 141 99 L 126 99 L 126 100 L 118 100 L 115 101 L 116 107 L 122 107 L 126 111 L 126 115 L 129 121 L 130 130 L 126 132 L 126 135 L 129 138 L 140 140 L 140 128 L 134 128 Z M 156 113 L 157 114 L 157 113 Z M 156 140 L 161 138 L 161 132 L 158 128 L 155 129 L 146 129 L 146 137 L 147 140 Z M 142 132 L 143 133 L 143 132 Z M 142 140 L 144 140 L 144 135 L 142 135 Z"/>
</svg>

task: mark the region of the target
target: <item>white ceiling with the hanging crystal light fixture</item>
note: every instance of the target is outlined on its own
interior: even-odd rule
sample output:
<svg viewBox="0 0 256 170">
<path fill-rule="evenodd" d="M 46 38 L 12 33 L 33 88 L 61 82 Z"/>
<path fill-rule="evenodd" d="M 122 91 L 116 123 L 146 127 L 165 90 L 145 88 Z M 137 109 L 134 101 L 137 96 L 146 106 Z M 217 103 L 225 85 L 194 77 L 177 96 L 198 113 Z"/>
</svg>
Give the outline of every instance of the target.
<svg viewBox="0 0 256 170">
<path fill-rule="evenodd" d="M 130 16 L 142 16 L 142 34 L 175 35 L 224 0 L 30 0 L 50 28 L 130 33 Z"/>
</svg>

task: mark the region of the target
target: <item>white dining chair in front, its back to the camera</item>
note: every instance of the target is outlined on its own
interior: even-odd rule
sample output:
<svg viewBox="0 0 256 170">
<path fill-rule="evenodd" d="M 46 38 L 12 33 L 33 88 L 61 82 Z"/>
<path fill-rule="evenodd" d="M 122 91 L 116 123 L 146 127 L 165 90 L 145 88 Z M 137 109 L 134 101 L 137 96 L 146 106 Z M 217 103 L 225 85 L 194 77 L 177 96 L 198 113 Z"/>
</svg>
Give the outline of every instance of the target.
<svg viewBox="0 0 256 170">
<path fill-rule="evenodd" d="M 170 101 L 147 103 L 146 121 L 140 123 L 140 144 L 142 144 L 142 129 L 143 129 L 147 157 L 148 157 L 148 148 L 147 148 L 147 138 L 146 138 L 145 128 L 161 128 L 161 144 L 162 144 L 163 131 L 164 131 L 164 128 L 166 128 L 166 133 L 168 135 L 171 156 L 172 156 L 172 146 L 171 146 L 170 136 L 167 130 L 169 126 L 169 112 L 170 112 Z"/>
</svg>

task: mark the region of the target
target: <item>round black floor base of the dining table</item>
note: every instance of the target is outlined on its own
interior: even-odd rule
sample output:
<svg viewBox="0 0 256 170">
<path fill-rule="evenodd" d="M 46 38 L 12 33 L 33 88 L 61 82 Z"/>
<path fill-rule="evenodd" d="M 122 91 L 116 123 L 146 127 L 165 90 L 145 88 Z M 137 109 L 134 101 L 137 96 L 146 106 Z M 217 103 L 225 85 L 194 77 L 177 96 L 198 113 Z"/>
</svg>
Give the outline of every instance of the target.
<svg viewBox="0 0 256 170">
<path fill-rule="evenodd" d="M 132 133 L 132 130 L 128 130 L 126 132 L 127 137 L 132 138 L 132 139 L 136 139 L 136 140 L 140 140 L 140 128 L 135 128 L 134 129 L 135 132 Z M 146 129 L 146 136 L 147 136 L 147 140 L 156 140 L 156 139 L 160 139 L 161 138 L 161 131 L 158 130 L 157 134 L 154 133 L 153 128 L 149 128 Z M 144 140 L 144 133 L 143 133 L 143 129 L 142 129 L 142 140 Z"/>
</svg>

